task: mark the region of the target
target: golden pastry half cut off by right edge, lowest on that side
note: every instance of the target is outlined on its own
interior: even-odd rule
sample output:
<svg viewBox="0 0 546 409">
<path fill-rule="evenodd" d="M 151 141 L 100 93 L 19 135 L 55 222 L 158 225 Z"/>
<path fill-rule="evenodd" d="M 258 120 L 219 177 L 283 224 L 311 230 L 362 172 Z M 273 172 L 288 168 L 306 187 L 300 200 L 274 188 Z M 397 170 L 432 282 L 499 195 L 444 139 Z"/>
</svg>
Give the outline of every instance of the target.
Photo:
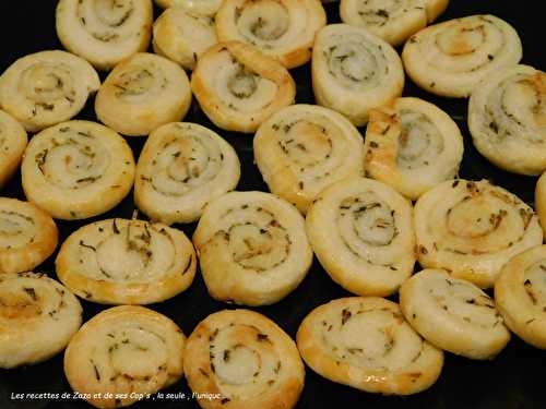
<svg viewBox="0 0 546 409">
<path fill-rule="evenodd" d="M 495 281 L 495 302 L 508 327 L 525 342 L 546 349 L 546 245 L 511 258 Z"/>
</svg>

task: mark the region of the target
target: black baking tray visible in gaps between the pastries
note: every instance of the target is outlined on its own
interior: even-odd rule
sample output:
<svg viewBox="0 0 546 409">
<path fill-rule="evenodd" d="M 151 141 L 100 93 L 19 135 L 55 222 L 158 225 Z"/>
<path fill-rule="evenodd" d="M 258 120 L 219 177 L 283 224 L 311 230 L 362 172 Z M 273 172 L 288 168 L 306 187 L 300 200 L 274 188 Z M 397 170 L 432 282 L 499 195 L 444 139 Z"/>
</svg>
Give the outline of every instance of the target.
<svg viewBox="0 0 546 409">
<path fill-rule="evenodd" d="M 452 0 L 440 21 L 477 13 L 492 13 L 511 23 L 523 41 L 523 62 L 535 68 L 546 69 L 543 12 L 537 8 L 541 1 L 531 0 Z M 55 33 L 56 0 L 0 0 L 0 70 L 3 71 L 16 58 L 46 49 L 62 48 Z M 339 3 L 327 7 L 329 23 L 339 22 Z M 155 16 L 159 13 L 155 9 Z M 313 103 L 309 64 L 292 70 L 297 83 L 297 103 Z M 104 75 L 102 74 L 103 79 Z M 459 124 L 465 143 L 461 177 L 467 179 L 486 178 L 518 194 L 525 202 L 533 203 L 536 178 L 520 177 L 496 169 L 480 157 L 472 145 L 466 127 L 466 100 L 443 99 L 417 88 L 407 80 L 405 95 L 417 96 L 437 104 Z M 95 120 L 93 100 L 78 116 L 80 119 Z M 186 121 L 198 122 L 216 130 L 193 101 Z M 216 130 L 233 144 L 242 163 L 242 177 L 238 190 L 266 191 L 258 168 L 252 160 L 252 136 Z M 363 135 L 365 129 L 360 130 Z M 129 139 L 135 158 L 144 139 Z M 24 199 L 17 173 L 1 195 Z M 132 195 L 129 195 L 114 210 L 84 221 L 58 221 L 60 240 L 80 226 L 108 217 L 130 218 L 134 209 Z M 177 226 L 191 234 L 194 225 Z M 55 255 L 37 267 L 55 277 Z M 335 285 L 314 260 L 309 275 L 304 282 L 286 299 L 272 306 L 257 311 L 273 318 L 290 336 L 295 337 L 304 316 L 314 306 L 329 300 L 349 296 Z M 395 300 L 395 298 L 394 298 Z M 84 320 L 88 320 L 105 306 L 82 301 Z M 152 309 L 173 318 L 189 335 L 195 325 L 209 314 L 229 305 L 215 302 L 207 293 L 201 276 L 198 274 L 192 286 L 180 296 L 150 305 Z M 494 360 L 476 362 L 447 353 L 446 364 L 438 382 L 427 392 L 411 397 L 384 397 L 358 392 L 346 386 L 329 382 L 307 369 L 306 386 L 297 406 L 299 409 L 325 409 L 357 406 L 361 408 L 546 408 L 546 388 L 543 371 L 546 356 L 515 336 L 508 347 Z M 62 353 L 47 362 L 11 371 L 0 371 L 0 409 L 78 409 L 88 408 L 79 400 L 15 400 L 12 393 L 63 393 L 70 386 L 62 371 Z M 186 381 L 180 381 L 169 392 L 183 392 L 191 395 Z M 147 400 L 132 406 L 140 408 L 199 408 L 193 399 L 187 400 Z M 257 408 L 259 409 L 259 408 Z"/>
</svg>

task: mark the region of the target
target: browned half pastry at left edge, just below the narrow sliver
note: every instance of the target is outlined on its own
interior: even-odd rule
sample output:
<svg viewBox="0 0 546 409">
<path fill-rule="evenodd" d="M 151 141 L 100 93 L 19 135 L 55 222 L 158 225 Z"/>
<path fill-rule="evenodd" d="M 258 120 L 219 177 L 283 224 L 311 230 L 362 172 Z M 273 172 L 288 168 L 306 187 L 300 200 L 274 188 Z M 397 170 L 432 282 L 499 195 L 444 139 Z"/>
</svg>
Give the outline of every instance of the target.
<svg viewBox="0 0 546 409">
<path fill-rule="evenodd" d="M 29 272 L 57 248 L 54 219 L 32 203 L 0 197 L 0 276 Z"/>
</svg>

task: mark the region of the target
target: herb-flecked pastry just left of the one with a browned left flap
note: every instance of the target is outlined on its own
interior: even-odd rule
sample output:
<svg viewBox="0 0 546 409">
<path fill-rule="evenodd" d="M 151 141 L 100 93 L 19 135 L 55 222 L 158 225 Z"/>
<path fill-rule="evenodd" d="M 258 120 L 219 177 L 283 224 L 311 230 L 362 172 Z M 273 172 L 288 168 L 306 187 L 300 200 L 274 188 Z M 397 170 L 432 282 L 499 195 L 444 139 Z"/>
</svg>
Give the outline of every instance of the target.
<svg viewBox="0 0 546 409">
<path fill-rule="evenodd" d="M 272 193 L 301 213 L 327 185 L 364 175 L 364 144 L 341 113 L 314 105 L 275 112 L 258 129 L 254 160 Z"/>
</svg>

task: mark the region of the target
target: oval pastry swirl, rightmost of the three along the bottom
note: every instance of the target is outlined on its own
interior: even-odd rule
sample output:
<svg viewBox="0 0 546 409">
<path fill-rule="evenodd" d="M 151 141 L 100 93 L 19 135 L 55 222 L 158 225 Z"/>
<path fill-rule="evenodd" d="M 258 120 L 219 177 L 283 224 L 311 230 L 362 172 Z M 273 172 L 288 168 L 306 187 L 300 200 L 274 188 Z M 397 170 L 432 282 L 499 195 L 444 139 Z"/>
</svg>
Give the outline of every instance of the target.
<svg viewBox="0 0 546 409">
<path fill-rule="evenodd" d="M 424 340 L 396 303 L 352 297 L 316 308 L 299 326 L 304 361 L 321 376 L 369 393 L 411 395 L 440 375 L 443 352 Z"/>
</svg>

